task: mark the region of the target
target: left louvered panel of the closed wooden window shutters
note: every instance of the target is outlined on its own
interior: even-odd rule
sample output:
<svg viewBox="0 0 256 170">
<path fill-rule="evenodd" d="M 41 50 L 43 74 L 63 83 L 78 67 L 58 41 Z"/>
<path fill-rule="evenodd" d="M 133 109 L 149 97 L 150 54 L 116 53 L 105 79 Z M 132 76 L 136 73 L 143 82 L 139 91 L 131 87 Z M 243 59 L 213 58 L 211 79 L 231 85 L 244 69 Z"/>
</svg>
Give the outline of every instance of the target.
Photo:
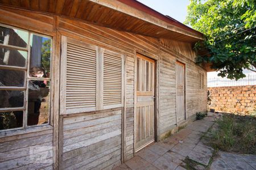
<svg viewBox="0 0 256 170">
<path fill-rule="evenodd" d="M 67 41 L 62 42 L 62 53 L 67 55 L 61 56 L 61 113 L 95 111 L 97 47 L 67 37 L 62 40 Z"/>
</svg>

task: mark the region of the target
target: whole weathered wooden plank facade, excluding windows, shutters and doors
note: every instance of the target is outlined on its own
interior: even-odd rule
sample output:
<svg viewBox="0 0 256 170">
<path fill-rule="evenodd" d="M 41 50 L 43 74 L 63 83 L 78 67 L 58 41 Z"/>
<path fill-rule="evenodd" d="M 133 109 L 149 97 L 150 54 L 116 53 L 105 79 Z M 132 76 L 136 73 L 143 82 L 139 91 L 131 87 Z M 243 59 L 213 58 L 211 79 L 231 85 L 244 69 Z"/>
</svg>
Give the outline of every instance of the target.
<svg viewBox="0 0 256 170">
<path fill-rule="evenodd" d="M 0 8 L 0 23 L 28 29 L 53 39 L 51 124 L 0 133 L 0 169 L 112 169 L 134 156 L 136 54 L 154 59 L 155 141 L 207 110 L 206 71 L 197 66 L 192 45 L 117 31 L 94 24 L 31 11 Z M 61 36 L 125 56 L 122 107 L 82 113 L 60 109 L 63 93 Z M 185 47 L 185 48 L 184 48 Z M 176 62 L 185 65 L 185 120 L 176 121 Z M 45 146 L 45 147 L 43 147 Z M 30 152 L 39 148 L 38 152 Z M 32 154 L 31 154 L 32 153 Z M 40 157 L 40 155 L 43 155 Z M 47 155 L 47 156 L 45 156 Z M 33 162 L 38 156 L 42 160 Z M 37 158 L 37 157 L 36 157 Z M 35 161 L 35 160 L 34 160 Z"/>
</svg>

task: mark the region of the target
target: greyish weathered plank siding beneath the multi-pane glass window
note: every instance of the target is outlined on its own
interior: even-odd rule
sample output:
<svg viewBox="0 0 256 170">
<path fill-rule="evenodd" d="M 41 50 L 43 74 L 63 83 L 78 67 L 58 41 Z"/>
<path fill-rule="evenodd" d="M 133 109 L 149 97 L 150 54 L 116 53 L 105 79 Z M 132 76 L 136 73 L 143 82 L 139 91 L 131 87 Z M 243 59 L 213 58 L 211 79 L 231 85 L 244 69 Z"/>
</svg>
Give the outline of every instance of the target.
<svg viewBox="0 0 256 170">
<path fill-rule="evenodd" d="M 53 169 L 52 128 L 0 137 L 0 169 Z"/>
</svg>

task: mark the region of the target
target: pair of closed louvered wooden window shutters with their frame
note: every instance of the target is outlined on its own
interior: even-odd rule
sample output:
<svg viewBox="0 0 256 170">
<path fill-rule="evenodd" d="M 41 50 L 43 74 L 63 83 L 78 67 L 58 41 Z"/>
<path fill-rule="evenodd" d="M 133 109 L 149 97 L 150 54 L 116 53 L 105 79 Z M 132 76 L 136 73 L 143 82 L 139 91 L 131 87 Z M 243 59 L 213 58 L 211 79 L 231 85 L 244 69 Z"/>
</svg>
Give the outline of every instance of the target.
<svg viewBox="0 0 256 170">
<path fill-rule="evenodd" d="M 123 55 L 63 36 L 60 114 L 123 105 Z"/>
</svg>

